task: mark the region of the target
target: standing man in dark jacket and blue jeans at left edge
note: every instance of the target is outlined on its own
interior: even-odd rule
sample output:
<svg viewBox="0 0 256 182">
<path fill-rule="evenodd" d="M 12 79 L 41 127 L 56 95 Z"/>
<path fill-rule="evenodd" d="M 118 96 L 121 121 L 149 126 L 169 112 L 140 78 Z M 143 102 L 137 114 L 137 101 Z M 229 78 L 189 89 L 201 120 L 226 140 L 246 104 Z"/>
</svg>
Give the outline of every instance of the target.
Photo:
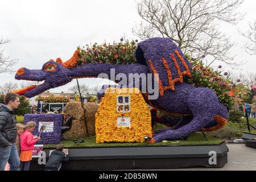
<svg viewBox="0 0 256 182">
<path fill-rule="evenodd" d="M 17 171 L 19 155 L 15 146 L 17 131 L 13 110 L 19 107 L 19 95 L 7 93 L 4 101 L 5 105 L 0 105 L 0 171 L 5 170 L 7 162 L 10 171 Z"/>
</svg>

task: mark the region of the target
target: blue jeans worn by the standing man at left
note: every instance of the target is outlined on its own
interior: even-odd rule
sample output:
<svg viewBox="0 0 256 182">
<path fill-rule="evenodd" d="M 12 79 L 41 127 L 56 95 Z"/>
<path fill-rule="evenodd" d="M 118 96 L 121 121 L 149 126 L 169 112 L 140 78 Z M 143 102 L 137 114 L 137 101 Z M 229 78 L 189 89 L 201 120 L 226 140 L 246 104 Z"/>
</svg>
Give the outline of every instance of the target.
<svg viewBox="0 0 256 182">
<path fill-rule="evenodd" d="M 5 170 L 7 162 L 10 164 L 10 171 L 18 171 L 19 155 L 15 144 L 8 148 L 0 147 L 0 171 Z"/>
</svg>

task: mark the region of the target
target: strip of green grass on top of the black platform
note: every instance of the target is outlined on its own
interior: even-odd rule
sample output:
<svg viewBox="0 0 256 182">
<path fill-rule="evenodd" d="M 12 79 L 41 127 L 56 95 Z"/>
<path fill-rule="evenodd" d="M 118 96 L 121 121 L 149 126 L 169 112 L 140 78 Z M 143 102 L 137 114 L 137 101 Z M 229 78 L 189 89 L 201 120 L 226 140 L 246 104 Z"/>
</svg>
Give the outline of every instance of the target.
<svg viewBox="0 0 256 182">
<path fill-rule="evenodd" d="M 61 141 L 66 148 L 81 148 L 81 147 L 135 147 L 135 146 L 191 146 L 191 145 L 216 145 L 224 142 L 223 139 L 217 139 L 213 137 L 209 137 L 205 139 L 203 134 L 195 133 L 190 135 L 187 140 L 174 140 L 160 143 L 99 143 L 95 142 L 95 137 L 83 138 L 85 140 L 84 143 L 80 145 L 76 145 L 73 143 L 73 138 L 69 138 L 67 140 Z M 55 148 L 55 144 L 46 144 L 44 148 Z"/>
</svg>

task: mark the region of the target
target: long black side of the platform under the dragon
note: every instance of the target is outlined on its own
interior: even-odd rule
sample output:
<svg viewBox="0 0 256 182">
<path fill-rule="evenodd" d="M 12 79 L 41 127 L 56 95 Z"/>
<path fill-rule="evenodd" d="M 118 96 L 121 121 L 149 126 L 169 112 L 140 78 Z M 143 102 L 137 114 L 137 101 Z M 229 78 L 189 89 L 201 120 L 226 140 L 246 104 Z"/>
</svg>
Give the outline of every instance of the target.
<svg viewBox="0 0 256 182">
<path fill-rule="evenodd" d="M 51 150 L 44 151 L 48 160 Z M 209 164 L 210 151 L 216 152 L 216 164 Z M 70 148 L 70 160 L 63 163 L 61 170 L 221 168 L 228 162 L 228 151 L 225 143 L 212 146 Z M 30 170 L 44 170 L 44 165 L 39 165 L 38 159 L 34 158 Z"/>
</svg>

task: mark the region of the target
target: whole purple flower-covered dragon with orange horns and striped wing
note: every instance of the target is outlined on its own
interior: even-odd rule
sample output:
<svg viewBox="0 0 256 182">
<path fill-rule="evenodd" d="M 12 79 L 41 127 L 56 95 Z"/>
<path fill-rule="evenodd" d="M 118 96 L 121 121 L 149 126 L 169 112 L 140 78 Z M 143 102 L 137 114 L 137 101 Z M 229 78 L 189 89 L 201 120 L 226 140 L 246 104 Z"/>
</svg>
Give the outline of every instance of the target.
<svg viewBox="0 0 256 182">
<path fill-rule="evenodd" d="M 60 59 L 48 61 L 42 69 L 31 70 L 20 68 L 15 75 L 18 80 L 44 81 L 42 85 L 17 90 L 31 98 L 48 89 L 65 85 L 74 78 L 97 77 L 100 73 L 110 76 L 110 69 L 115 75 L 124 73 L 158 73 L 159 97 L 149 100 L 143 94 L 147 104 L 152 106 L 152 125 L 164 123 L 171 126 L 155 131 L 155 142 L 185 138 L 195 131 L 213 131 L 224 127 L 227 123 L 228 109 L 218 101 L 213 90 L 195 88 L 184 82 L 184 76 L 191 77 L 191 65 L 183 52 L 168 38 L 152 38 L 138 44 L 135 53 L 136 64 L 88 63 L 77 65 L 79 50 L 73 57 L 63 63 Z M 129 84 L 127 84 L 129 85 Z M 98 95 L 102 97 L 102 94 Z M 179 114 L 179 121 L 168 121 L 160 118 L 157 111 Z"/>
</svg>

